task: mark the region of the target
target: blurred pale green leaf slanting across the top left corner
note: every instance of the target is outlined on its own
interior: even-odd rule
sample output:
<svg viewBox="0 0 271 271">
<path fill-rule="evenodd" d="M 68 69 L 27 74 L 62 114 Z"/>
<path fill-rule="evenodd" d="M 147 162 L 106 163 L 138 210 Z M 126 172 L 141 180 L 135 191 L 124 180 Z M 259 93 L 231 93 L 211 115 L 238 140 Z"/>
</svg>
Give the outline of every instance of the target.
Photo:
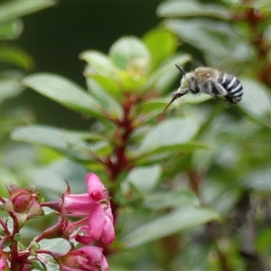
<svg viewBox="0 0 271 271">
<path fill-rule="evenodd" d="M 26 14 L 32 14 L 44 8 L 55 5 L 53 0 L 22 1 L 10 0 L 0 5 L 0 23 L 14 20 Z"/>
</svg>

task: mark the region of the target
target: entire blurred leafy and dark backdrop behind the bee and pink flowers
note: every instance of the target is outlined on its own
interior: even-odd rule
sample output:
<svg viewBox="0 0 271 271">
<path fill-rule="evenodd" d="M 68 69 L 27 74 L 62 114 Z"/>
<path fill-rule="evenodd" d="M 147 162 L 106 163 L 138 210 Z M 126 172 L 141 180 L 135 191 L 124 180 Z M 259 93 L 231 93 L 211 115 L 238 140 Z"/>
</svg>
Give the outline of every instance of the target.
<svg viewBox="0 0 271 271">
<path fill-rule="evenodd" d="M 91 171 L 112 197 L 112 270 L 269 271 L 270 3 L 43 9 L 51 2 L 10 0 L 0 9 L 9 3 L 20 8 L 0 16 L 1 191 L 5 182 L 34 182 L 53 199 L 63 180 L 84 191 Z M 25 16 L 30 3 L 47 4 Z M 179 87 L 176 63 L 235 74 L 244 97 L 231 105 L 187 95 L 161 116 Z M 29 236 L 42 230 L 31 222 Z"/>
</svg>

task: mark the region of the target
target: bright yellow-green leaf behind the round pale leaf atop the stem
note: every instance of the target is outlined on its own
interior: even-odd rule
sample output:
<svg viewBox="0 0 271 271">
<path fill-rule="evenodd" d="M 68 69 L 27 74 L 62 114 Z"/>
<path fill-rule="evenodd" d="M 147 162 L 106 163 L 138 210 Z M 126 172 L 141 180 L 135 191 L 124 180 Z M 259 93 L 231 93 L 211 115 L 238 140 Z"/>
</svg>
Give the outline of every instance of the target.
<svg viewBox="0 0 271 271">
<path fill-rule="evenodd" d="M 165 29 L 155 29 L 143 38 L 147 49 L 152 56 L 152 67 L 156 69 L 158 64 L 173 55 L 178 42 L 173 33 Z"/>
</svg>

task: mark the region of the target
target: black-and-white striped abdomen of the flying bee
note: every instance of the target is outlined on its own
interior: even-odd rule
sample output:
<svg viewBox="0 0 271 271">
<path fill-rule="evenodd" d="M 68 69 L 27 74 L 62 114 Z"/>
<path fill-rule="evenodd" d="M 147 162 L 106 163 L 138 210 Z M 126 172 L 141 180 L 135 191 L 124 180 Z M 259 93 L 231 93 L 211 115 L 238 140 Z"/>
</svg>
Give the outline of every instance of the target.
<svg viewBox="0 0 271 271">
<path fill-rule="evenodd" d="M 230 103 L 237 104 L 243 96 L 243 86 L 241 82 L 232 74 L 225 72 L 220 73 L 218 79 L 220 85 L 228 91 L 228 95 L 225 96 Z"/>
</svg>

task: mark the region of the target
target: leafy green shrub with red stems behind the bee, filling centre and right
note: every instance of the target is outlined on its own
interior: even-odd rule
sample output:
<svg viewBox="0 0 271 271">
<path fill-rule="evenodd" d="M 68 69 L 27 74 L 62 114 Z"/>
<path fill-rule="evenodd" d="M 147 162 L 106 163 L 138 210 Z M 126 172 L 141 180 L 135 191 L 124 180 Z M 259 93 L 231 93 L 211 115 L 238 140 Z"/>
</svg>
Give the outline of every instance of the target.
<svg viewBox="0 0 271 271">
<path fill-rule="evenodd" d="M 83 165 L 107 182 L 117 228 L 108 251 L 113 270 L 265 270 L 270 5 L 168 1 L 157 13 L 164 24 L 142 39 L 126 36 L 108 54 L 80 54 L 87 91 L 50 73 L 23 79 L 89 117 L 89 131 L 23 126 L 12 136 L 69 157 L 73 173 Z M 161 116 L 178 87 L 174 64 L 192 68 L 192 55 L 237 74 L 245 89 L 238 106 L 187 96 Z M 57 171 L 63 179 L 67 164 Z"/>
</svg>

